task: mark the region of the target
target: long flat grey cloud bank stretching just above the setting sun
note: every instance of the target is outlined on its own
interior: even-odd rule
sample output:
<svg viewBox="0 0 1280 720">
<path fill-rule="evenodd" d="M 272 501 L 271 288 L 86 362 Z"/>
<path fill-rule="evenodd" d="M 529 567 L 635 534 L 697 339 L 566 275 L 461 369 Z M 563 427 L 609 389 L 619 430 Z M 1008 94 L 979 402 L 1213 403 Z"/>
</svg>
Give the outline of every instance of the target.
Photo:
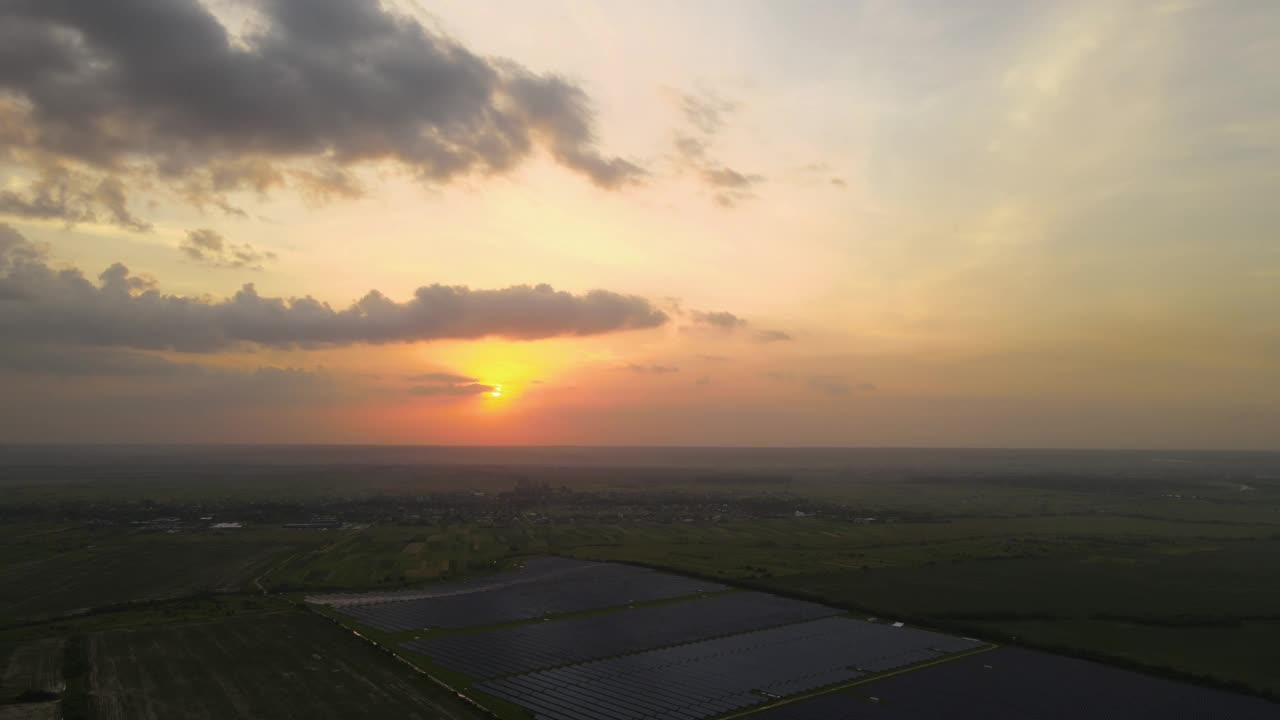
<svg viewBox="0 0 1280 720">
<path fill-rule="evenodd" d="M 641 297 L 550 286 L 470 290 L 431 284 L 397 302 L 378 291 L 335 310 L 312 297 L 264 297 L 246 284 L 216 300 L 165 295 L 115 264 L 93 283 L 50 268 L 28 243 L 3 234 L 0 337 L 5 342 L 209 352 L 246 345 L 315 347 L 485 336 L 536 340 L 654 328 L 666 313 Z M 20 236 L 18 236 L 20 238 Z"/>
</svg>

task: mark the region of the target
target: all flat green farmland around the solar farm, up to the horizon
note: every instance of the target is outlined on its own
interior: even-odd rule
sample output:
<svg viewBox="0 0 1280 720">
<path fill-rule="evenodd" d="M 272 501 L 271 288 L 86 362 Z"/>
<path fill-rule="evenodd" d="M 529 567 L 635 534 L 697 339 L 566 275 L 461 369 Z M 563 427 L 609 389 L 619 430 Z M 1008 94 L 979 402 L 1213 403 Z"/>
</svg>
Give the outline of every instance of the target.
<svg viewBox="0 0 1280 720">
<path fill-rule="evenodd" d="M 192 483 L 169 477 L 0 480 L 3 712 L 49 712 L 40 694 L 13 701 L 65 682 L 68 717 L 183 716 L 180 698 L 157 689 L 169 687 L 207 693 L 207 707 L 236 716 L 237 692 L 246 692 L 238 688 L 253 680 L 228 666 L 234 653 L 307 669 L 287 670 L 301 673 L 300 688 L 319 683 L 315 673 L 340 674 L 312 657 L 328 652 L 291 650 L 292 639 L 270 632 L 292 618 L 284 598 L 416 587 L 540 553 L 664 568 L 1280 696 L 1276 480 L 1249 480 L 1245 491 L 1217 477 L 806 471 L 726 480 L 704 471 L 500 466 L 282 468 L 233 473 L 225 483 L 220 471 Z M 522 479 L 554 491 L 502 489 Z M 244 527 L 211 529 L 197 521 L 206 514 Z M 145 524 L 170 515 L 183 520 Z M 283 527 L 311 518 L 348 524 Z M 294 634 L 302 646 L 338 642 Z M 369 634 L 390 646 L 406 639 Z M 54 647 L 69 648 L 60 665 L 50 660 Z M 182 660 L 143 661 L 151 652 Z M 119 662 L 128 656 L 140 659 L 136 667 Z M 110 673 L 88 687 L 84 667 Z M 367 671 L 401 669 L 390 667 Z M 223 684 L 219 673 L 229 673 Z M 294 716 L 265 692 L 250 693 L 260 703 L 255 716 Z M 413 710 L 392 715 L 402 711 Z"/>
</svg>

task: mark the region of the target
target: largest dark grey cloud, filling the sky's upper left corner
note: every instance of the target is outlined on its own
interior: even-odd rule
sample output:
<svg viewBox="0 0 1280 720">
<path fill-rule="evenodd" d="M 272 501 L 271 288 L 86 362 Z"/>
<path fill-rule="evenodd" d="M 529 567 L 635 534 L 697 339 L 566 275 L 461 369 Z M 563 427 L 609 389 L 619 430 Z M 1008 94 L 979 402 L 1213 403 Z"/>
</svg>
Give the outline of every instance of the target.
<svg viewBox="0 0 1280 720">
<path fill-rule="evenodd" d="M 356 193 L 346 170 L 371 161 L 428 182 L 503 173 L 539 149 L 604 188 L 645 174 L 600 152 L 590 99 L 562 77 L 476 55 L 376 0 L 255 9 L 232 37 L 197 0 L 6 0 L 0 154 L 157 177 L 215 204 L 291 173 L 321 196 Z M 118 190 L 99 202 L 123 208 Z"/>
</svg>

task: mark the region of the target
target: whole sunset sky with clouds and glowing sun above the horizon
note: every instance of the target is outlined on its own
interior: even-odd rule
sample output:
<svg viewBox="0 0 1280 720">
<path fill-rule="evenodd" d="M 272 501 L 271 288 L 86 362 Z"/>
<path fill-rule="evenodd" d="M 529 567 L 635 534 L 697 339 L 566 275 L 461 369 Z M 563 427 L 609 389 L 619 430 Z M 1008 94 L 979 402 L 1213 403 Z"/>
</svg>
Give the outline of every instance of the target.
<svg viewBox="0 0 1280 720">
<path fill-rule="evenodd" d="M 0 442 L 1280 450 L 1268 0 L 10 0 Z"/>
</svg>

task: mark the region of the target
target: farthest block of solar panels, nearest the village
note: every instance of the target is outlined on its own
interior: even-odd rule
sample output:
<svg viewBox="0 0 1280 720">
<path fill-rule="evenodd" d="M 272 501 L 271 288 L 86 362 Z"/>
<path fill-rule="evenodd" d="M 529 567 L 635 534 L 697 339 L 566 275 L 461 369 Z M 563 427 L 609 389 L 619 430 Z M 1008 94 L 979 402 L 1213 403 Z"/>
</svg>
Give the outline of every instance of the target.
<svg viewBox="0 0 1280 720">
<path fill-rule="evenodd" d="M 576 562 L 527 582 L 338 610 L 387 632 L 466 628 L 721 591 L 724 585 L 630 565 Z"/>
</svg>

